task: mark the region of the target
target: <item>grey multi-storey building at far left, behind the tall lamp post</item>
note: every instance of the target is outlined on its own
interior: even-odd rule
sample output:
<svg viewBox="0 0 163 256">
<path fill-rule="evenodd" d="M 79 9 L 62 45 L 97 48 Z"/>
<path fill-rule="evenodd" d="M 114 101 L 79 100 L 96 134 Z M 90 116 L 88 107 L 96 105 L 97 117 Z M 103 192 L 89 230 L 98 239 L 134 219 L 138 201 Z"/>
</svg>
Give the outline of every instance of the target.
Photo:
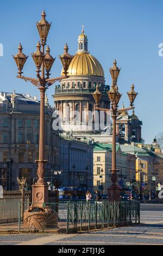
<svg viewBox="0 0 163 256">
<path fill-rule="evenodd" d="M 45 158 L 46 169 L 59 167 L 59 133 L 53 132 L 53 109 L 46 97 Z M 29 94 L 0 92 L 0 182 L 4 189 L 17 189 L 17 177 L 36 177 L 35 159 L 39 158 L 40 102 Z M 48 135 L 48 136 L 47 136 Z M 9 177 L 5 162 L 9 166 Z"/>
</svg>

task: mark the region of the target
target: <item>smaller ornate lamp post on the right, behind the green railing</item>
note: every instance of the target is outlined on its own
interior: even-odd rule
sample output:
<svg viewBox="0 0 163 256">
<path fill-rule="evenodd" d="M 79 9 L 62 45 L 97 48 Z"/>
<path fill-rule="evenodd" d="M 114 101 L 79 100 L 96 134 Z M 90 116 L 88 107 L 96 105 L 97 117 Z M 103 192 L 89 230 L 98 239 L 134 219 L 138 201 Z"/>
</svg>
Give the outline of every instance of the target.
<svg viewBox="0 0 163 256">
<path fill-rule="evenodd" d="M 111 166 L 111 181 L 112 185 L 108 188 L 108 200 L 109 201 L 118 201 L 120 200 L 120 188 L 117 187 L 117 169 L 116 169 L 116 119 L 117 116 L 120 115 L 124 110 L 128 111 L 133 109 L 133 103 L 137 96 L 137 93 L 134 91 L 134 85 L 131 85 L 131 91 L 128 92 L 129 100 L 130 100 L 130 108 L 126 109 L 118 109 L 118 103 L 121 99 L 122 94 L 118 92 L 117 79 L 120 74 L 120 68 L 116 66 L 116 60 L 113 63 L 113 67 L 110 68 L 110 74 L 112 78 L 112 86 L 110 91 L 108 91 L 108 97 L 111 102 L 111 110 L 110 109 L 102 109 L 99 107 L 99 101 L 102 97 L 102 93 L 99 91 L 98 85 L 96 86 L 96 91 L 93 93 L 93 98 L 96 102 L 96 109 L 103 111 L 111 111 L 112 117 L 112 166 Z"/>
</svg>

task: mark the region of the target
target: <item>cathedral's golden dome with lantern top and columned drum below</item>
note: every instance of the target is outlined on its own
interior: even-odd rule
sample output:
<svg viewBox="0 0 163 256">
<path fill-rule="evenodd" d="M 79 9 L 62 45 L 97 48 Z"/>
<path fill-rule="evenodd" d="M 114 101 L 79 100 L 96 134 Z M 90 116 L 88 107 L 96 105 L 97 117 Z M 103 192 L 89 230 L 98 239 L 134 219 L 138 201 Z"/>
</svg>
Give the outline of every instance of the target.
<svg viewBox="0 0 163 256">
<path fill-rule="evenodd" d="M 67 45 L 65 50 L 68 50 Z M 94 138 L 95 135 L 95 141 L 99 140 L 102 129 L 99 126 L 98 112 L 95 111 L 95 100 L 92 97 L 96 85 L 103 94 L 101 106 L 110 108 L 106 93 L 109 86 L 105 85 L 103 68 L 89 53 L 87 36 L 83 30 L 78 37 L 78 51 L 69 66 L 68 78 L 62 79 L 60 85 L 55 86 L 53 95 L 55 108 L 61 118 L 63 133 L 71 133 L 78 139 Z M 104 114 L 101 118 L 103 123 L 106 123 L 107 115 Z"/>
</svg>

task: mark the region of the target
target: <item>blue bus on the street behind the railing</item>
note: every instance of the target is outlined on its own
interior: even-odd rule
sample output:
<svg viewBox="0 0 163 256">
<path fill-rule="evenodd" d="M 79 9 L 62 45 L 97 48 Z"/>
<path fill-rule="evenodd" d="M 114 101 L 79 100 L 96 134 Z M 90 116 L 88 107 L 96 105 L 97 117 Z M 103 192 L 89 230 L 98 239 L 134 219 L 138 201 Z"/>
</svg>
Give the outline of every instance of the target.
<svg viewBox="0 0 163 256">
<path fill-rule="evenodd" d="M 84 188 L 62 187 L 59 188 L 59 200 L 84 200 L 86 191 Z"/>
</svg>

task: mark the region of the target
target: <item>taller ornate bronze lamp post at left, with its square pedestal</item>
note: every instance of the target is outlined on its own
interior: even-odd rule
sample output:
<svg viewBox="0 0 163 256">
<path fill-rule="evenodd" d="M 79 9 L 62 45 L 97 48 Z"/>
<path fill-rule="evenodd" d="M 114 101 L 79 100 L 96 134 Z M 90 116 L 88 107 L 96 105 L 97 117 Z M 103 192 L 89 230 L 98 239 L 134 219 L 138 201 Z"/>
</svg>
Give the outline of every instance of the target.
<svg viewBox="0 0 163 256">
<path fill-rule="evenodd" d="M 30 209 L 35 209 L 35 207 L 42 207 L 44 210 L 44 203 L 48 203 L 48 184 L 44 180 L 45 178 L 45 164 L 47 160 L 45 160 L 45 152 L 44 152 L 44 138 L 45 138 L 45 92 L 49 86 L 52 86 L 54 82 L 60 81 L 61 79 L 67 78 L 67 69 L 68 64 L 70 64 L 72 57 L 68 53 L 68 49 L 66 50 L 66 56 L 62 56 L 61 62 L 63 63 L 63 68 L 65 70 L 65 76 L 61 76 L 58 78 L 49 79 L 49 72 L 53 66 L 55 59 L 50 55 L 49 46 L 47 46 L 46 54 L 45 54 L 45 45 L 47 41 L 47 36 L 49 29 L 51 27 L 51 23 L 46 21 L 46 13 L 43 10 L 42 19 L 36 23 L 37 29 L 40 35 L 40 41 L 36 45 L 36 51 L 32 53 L 32 58 L 35 62 L 36 66 L 36 76 L 37 78 L 29 78 L 26 76 L 22 76 L 22 69 L 24 64 L 26 63 L 27 56 L 22 52 L 22 45 L 18 46 L 18 53 L 13 56 L 15 62 L 18 67 L 18 75 L 17 78 L 23 79 L 25 81 L 31 82 L 34 86 L 36 86 L 40 90 L 40 140 L 39 140 L 39 159 L 35 160 L 35 163 L 38 164 L 37 167 L 37 176 L 39 179 L 37 183 L 33 185 L 33 204 Z M 41 42 L 41 44 L 40 44 Z M 41 49 L 42 47 L 42 49 Z M 67 47 L 68 48 L 68 47 Z M 69 62 L 67 62 L 67 58 Z M 41 70 L 40 70 L 41 69 Z M 46 75 L 45 75 L 46 70 Z M 40 75 L 41 72 L 41 75 Z M 46 209 L 47 210 L 47 209 Z"/>
</svg>

